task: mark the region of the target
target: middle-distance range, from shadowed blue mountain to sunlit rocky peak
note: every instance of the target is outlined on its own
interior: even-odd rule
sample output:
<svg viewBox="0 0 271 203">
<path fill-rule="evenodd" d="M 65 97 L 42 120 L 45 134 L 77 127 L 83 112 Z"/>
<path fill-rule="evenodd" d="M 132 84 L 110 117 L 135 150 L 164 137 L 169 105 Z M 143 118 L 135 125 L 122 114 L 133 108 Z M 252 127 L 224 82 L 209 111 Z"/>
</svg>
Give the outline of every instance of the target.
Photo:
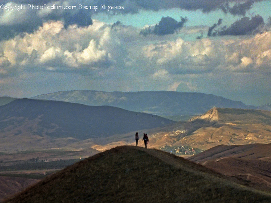
<svg viewBox="0 0 271 203">
<path fill-rule="evenodd" d="M 104 151 L 134 143 L 147 133 L 150 147 L 270 143 L 271 112 L 212 108 L 187 122 L 111 106 L 17 99 L 0 106 L 0 150 L 93 148 Z M 11 140 L 13 140 L 11 142 Z M 143 142 L 139 142 L 143 146 Z"/>
</svg>

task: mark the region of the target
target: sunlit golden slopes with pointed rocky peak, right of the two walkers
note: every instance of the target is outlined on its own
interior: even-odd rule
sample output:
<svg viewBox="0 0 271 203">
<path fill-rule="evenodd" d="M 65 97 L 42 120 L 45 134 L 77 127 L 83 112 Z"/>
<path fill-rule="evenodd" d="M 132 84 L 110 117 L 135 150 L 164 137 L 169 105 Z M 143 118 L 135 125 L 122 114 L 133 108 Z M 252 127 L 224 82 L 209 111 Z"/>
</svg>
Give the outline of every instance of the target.
<svg viewBox="0 0 271 203">
<path fill-rule="evenodd" d="M 176 123 L 151 133 L 151 145 L 157 148 L 167 144 L 206 150 L 221 144 L 270 143 L 271 112 L 214 107 L 186 123 Z"/>
</svg>

